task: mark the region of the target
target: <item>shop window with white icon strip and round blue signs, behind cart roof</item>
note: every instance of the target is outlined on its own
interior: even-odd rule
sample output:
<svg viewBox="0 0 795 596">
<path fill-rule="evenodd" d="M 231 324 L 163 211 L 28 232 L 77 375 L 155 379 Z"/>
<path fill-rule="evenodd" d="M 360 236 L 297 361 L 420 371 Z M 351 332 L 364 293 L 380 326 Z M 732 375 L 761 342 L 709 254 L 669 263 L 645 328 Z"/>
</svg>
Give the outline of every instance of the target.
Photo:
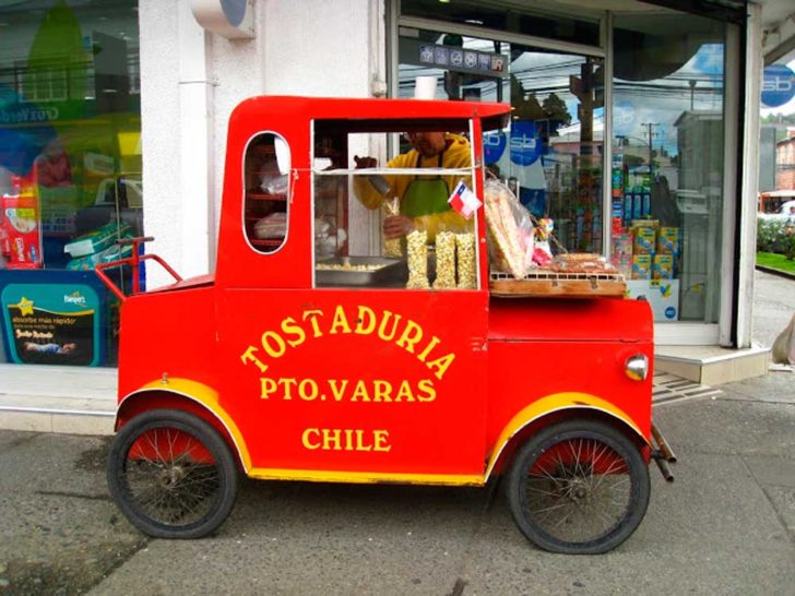
<svg viewBox="0 0 795 596">
<path fill-rule="evenodd" d="M 441 48 L 443 64 L 431 63 Z M 490 39 L 402 28 L 400 94 L 418 76 L 436 78 L 438 99 L 510 102 L 508 131 L 484 138 L 491 174 L 511 187 L 536 219 L 553 220 L 555 252 L 603 251 L 604 61 L 601 58 Z M 423 57 L 423 52 L 428 57 Z M 467 69 L 451 52 L 480 57 Z"/>
</svg>

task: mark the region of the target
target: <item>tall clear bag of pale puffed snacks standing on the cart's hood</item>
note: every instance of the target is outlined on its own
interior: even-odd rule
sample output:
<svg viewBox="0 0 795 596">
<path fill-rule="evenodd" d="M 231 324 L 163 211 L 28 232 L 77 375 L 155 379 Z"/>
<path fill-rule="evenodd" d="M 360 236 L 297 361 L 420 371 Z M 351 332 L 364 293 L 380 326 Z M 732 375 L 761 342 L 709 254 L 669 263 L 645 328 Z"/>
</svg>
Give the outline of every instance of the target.
<svg viewBox="0 0 795 596">
<path fill-rule="evenodd" d="M 530 212 L 502 182 L 488 180 L 484 192 L 489 263 L 522 279 L 533 266 L 535 230 Z"/>
</svg>

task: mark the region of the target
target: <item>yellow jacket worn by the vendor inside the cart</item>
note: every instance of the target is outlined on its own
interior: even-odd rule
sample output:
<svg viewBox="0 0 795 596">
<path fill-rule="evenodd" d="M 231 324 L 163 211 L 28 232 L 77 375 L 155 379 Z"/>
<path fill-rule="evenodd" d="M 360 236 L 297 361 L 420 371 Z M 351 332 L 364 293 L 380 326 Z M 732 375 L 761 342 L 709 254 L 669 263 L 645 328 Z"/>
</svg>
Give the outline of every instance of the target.
<svg viewBox="0 0 795 596">
<path fill-rule="evenodd" d="M 441 167 L 442 168 L 471 168 L 472 167 L 472 154 L 470 150 L 470 142 L 459 135 L 452 133 L 446 133 L 444 139 L 448 142 L 448 146 L 442 155 Z M 418 160 L 419 159 L 419 160 Z M 411 150 L 407 153 L 402 153 L 396 157 L 390 159 L 387 163 L 388 168 L 438 168 L 439 158 L 434 156 L 429 158 L 422 157 L 416 150 Z M 435 178 L 434 176 L 432 178 Z M 406 175 L 384 175 L 384 179 L 390 186 L 390 195 L 384 196 L 379 194 L 372 184 L 367 180 L 365 176 L 354 176 L 354 192 L 359 199 L 361 204 L 367 208 L 379 208 L 384 200 L 393 196 L 403 198 L 408 184 L 411 184 L 417 177 Z M 472 188 L 471 176 L 442 176 L 441 177 L 447 183 L 448 190 L 453 191 L 455 186 L 464 180 L 467 187 Z M 473 229 L 473 223 L 471 219 L 466 219 L 452 208 L 441 212 L 432 213 L 430 215 L 420 215 L 414 217 L 414 226 L 417 229 L 424 229 L 428 233 L 428 240 L 434 241 L 437 231 L 471 231 Z"/>
</svg>

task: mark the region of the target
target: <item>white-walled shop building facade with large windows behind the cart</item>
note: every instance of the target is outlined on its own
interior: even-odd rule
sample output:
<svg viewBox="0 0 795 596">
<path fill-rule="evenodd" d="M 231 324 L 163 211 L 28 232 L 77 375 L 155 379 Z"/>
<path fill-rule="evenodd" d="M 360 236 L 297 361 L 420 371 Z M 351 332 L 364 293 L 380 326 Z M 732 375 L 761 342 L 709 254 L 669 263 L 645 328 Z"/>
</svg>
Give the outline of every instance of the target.
<svg viewBox="0 0 795 596">
<path fill-rule="evenodd" d="M 487 165 L 555 220 L 561 247 L 626 271 L 631 295 L 652 302 L 658 344 L 747 347 L 759 79 L 766 52 L 792 43 L 786 4 L 2 7 L 0 366 L 114 366 L 118 305 L 92 267 L 118 257 L 118 237 L 153 236 L 149 250 L 183 276 L 213 270 L 240 100 L 412 97 L 418 76 L 436 79 L 438 99 L 511 105 Z M 637 227 L 653 229 L 652 246 L 638 246 Z M 150 287 L 166 282 L 147 270 Z"/>
</svg>

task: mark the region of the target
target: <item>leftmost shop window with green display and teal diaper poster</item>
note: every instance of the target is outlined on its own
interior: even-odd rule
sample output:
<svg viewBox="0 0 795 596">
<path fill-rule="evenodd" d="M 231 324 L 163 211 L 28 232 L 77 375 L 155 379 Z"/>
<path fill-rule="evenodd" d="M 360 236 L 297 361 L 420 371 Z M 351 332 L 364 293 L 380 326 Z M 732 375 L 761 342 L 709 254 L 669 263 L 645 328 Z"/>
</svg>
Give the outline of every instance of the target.
<svg viewBox="0 0 795 596">
<path fill-rule="evenodd" d="M 0 362 L 112 365 L 92 270 L 142 234 L 138 2 L 0 4 Z"/>
</svg>

